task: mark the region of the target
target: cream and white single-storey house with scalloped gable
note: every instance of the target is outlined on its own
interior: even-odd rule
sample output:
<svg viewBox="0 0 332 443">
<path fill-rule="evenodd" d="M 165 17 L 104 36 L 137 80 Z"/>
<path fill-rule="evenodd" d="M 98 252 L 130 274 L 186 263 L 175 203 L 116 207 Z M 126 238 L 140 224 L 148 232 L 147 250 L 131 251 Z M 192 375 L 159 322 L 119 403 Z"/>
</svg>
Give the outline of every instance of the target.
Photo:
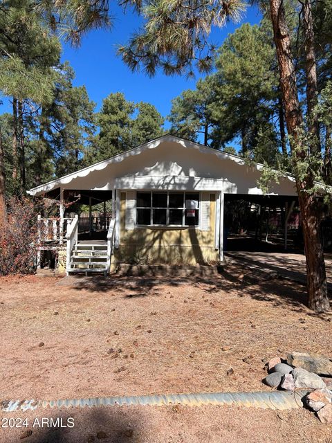
<svg viewBox="0 0 332 443">
<path fill-rule="evenodd" d="M 222 262 L 225 199 L 268 199 L 290 209 L 297 199 L 292 177 L 264 195 L 257 185 L 262 168 L 169 134 L 156 138 L 29 190 L 59 202 L 58 219 L 39 217 L 39 248 L 65 248 L 67 273 L 107 273 L 133 261 Z M 104 218 L 104 238 L 94 238 L 90 217 L 91 237 L 80 241 L 79 219 L 68 219 L 66 202 L 89 204 L 91 215 L 107 200 L 112 216 Z"/>
</svg>

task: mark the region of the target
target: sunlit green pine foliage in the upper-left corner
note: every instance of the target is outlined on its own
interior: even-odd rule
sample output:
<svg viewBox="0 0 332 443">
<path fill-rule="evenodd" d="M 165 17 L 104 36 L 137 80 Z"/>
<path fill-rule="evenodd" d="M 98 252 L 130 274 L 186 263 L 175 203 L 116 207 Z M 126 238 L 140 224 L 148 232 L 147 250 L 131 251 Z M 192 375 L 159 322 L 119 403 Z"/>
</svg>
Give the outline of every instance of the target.
<svg viewBox="0 0 332 443">
<path fill-rule="evenodd" d="M 7 0 L 0 8 L 0 89 L 7 96 L 50 102 L 61 46 L 32 0 Z"/>
</svg>

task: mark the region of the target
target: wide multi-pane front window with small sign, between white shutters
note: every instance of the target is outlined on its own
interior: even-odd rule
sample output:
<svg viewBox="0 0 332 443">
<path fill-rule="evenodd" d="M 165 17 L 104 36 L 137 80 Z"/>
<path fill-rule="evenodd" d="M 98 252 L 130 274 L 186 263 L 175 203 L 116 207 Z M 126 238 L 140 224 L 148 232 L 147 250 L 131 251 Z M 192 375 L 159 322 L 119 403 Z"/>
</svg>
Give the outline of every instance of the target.
<svg viewBox="0 0 332 443">
<path fill-rule="evenodd" d="M 194 217 L 187 217 L 186 201 L 192 201 Z M 136 224 L 143 226 L 198 226 L 198 192 L 137 192 Z"/>
</svg>

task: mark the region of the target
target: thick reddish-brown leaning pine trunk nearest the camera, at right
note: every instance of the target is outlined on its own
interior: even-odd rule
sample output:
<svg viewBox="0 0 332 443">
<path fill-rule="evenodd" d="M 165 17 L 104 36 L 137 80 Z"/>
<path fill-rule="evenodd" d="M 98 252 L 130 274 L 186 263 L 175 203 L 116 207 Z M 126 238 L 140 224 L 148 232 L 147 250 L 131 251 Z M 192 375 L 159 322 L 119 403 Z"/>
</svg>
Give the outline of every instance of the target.
<svg viewBox="0 0 332 443">
<path fill-rule="evenodd" d="M 305 152 L 300 149 L 299 127 L 303 117 L 297 93 L 295 65 L 291 53 L 291 37 L 286 24 L 282 0 L 270 0 L 270 15 L 273 35 L 277 49 L 277 59 L 282 87 L 282 99 L 285 107 L 287 132 L 292 136 L 291 150 L 297 147 L 297 161 L 303 161 Z M 313 177 L 308 170 L 304 180 L 295 177 L 299 208 L 302 213 L 304 247 L 306 251 L 308 306 L 315 311 L 329 309 L 327 294 L 324 253 L 320 242 L 320 209 L 313 195 L 306 192 L 313 184 Z"/>
</svg>

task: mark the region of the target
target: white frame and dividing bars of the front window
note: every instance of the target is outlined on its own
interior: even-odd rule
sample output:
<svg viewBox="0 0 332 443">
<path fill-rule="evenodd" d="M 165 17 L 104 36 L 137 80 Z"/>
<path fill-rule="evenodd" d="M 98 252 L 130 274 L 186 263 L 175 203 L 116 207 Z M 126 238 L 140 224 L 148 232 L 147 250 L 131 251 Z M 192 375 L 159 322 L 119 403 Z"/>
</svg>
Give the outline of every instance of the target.
<svg viewBox="0 0 332 443">
<path fill-rule="evenodd" d="M 137 194 L 140 192 L 149 192 L 150 194 L 150 206 L 137 206 Z M 160 193 L 160 194 L 167 194 L 167 207 L 160 208 L 160 207 L 154 207 L 153 206 L 153 197 L 152 194 Z M 183 207 L 182 208 L 169 208 L 169 193 L 172 194 L 182 194 L 183 195 Z M 189 225 L 185 224 L 185 195 L 186 194 L 198 194 L 199 195 L 199 207 L 197 208 L 199 210 L 199 220 L 198 224 L 195 225 Z M 136 190 L 135 193 L 135 227 L 136 228 L 163 228 L 163 229 L 169 229 L 169 228 L 189 228 L 189 229 L 200 229 L 201 228 L 201 192 L 199 191 L 187 191 L 187 190 L 180 190 L 180 191 L 174 191 L 174 190 Z M 137 223 L 137 210 L 138 209 L 149 209 L 150 210 L 150 224 L 138 224 Z M 153 210 L 154 209 L 164 209 L 166 210 L 166 224 L 153 224 Z M 183 211 L 182 215 L 182 221 L 183 224 L 169 224 L 169 210 L 170 209 L 178 209 Z"/>
</svg>

